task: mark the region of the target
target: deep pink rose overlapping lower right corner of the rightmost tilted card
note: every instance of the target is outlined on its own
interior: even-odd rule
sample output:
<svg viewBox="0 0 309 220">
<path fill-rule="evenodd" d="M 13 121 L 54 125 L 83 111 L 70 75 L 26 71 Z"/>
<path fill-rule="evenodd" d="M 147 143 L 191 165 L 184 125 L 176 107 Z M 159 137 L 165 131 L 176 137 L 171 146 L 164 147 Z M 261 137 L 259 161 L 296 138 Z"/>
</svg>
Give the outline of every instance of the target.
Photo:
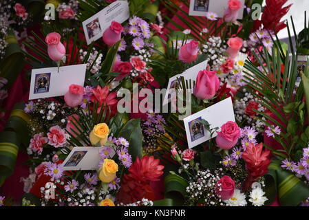
<svg viewBox="0 0 309 220">
<path fill-rule="evenodd" d="M 217 131 L 215 142 L 224 150 L 231 149 L 237 144 L 240 137 L 240 129 L 236 122 L 226 122 L 222 125 L 221 131 Z"/>
</svg>

